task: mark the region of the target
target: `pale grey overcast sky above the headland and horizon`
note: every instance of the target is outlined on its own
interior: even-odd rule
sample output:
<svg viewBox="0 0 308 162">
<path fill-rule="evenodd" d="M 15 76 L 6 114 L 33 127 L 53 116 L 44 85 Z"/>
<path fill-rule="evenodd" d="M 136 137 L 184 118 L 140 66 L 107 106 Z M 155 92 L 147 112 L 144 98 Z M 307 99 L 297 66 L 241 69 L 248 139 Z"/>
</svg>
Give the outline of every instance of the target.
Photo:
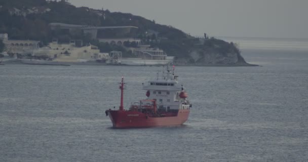
<svg viewBox="0 0 308 162">
<path fill-rule="evenodd" d="M 68 0 L 131 13 L 193 36 L 308 38 L 308 0 Z"/>
</svg>

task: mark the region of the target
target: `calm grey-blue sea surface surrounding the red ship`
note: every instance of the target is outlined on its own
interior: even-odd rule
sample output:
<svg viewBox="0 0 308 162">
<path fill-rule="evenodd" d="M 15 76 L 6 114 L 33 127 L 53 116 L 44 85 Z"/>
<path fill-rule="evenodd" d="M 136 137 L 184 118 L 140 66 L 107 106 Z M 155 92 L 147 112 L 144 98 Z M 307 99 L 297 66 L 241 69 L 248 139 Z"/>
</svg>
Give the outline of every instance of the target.
<svg viewBox="0 0 308 162">
<path fill-rule="evenodd" d="M 183 126 L 113 129 L 162 66 L 0 66 L 0 161 L 308 161 L 308 39 L 220 37 L 258 67 L 176 66 Z"/>
</svg>

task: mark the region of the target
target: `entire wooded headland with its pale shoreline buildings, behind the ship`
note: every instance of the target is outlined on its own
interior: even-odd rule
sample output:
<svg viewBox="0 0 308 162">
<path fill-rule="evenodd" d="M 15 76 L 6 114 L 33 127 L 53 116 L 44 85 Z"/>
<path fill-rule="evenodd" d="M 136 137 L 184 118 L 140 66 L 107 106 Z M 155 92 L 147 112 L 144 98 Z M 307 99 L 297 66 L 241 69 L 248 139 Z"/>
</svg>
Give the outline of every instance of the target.
<svg viewBox="0 0 308 162">
<path fill-rule="evenodd" d="M 129 13 L 75 7 L 66 1 L 0 2 L 0 57 L 155 65 L 257 66 L 238 46 L 194 37 Z"/>
</svg>

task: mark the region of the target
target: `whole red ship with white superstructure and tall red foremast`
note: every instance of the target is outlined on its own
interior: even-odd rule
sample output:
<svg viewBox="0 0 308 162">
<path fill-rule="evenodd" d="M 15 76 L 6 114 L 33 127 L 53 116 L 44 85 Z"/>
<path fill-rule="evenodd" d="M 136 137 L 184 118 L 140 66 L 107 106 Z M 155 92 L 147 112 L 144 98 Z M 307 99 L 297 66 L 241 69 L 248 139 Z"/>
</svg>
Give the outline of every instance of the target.
<svg viewBox="0 0 308 162">
<path fill-rule="evenodd" d="M 121 105 L 119 110 L 106 110 L 113 128 L 147 128 L 179 126 L 188 118 L 191 104 L 178 76 L 169 67 L 157 78 L 143 85 L 147 99 L 135 102 L 128 110 L 123 108 L 124 77 L 120 83 Z"/>
</svg>

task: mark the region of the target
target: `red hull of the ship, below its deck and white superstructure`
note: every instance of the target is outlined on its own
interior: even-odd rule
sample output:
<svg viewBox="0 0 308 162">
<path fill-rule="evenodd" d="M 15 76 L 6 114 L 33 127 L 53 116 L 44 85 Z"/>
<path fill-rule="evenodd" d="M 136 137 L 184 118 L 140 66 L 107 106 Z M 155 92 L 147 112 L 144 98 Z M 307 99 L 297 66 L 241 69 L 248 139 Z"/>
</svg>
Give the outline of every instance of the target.
<svg viewBox="0 0 308 162">
<path fill-rule="evenodd" d="M 179 126 L 188 119 L 189 109 L 181 109 L 176 116 L 150 117 L 138 111 L 109 110 L 113 128 L 149 128 Z"/>
</svg>

